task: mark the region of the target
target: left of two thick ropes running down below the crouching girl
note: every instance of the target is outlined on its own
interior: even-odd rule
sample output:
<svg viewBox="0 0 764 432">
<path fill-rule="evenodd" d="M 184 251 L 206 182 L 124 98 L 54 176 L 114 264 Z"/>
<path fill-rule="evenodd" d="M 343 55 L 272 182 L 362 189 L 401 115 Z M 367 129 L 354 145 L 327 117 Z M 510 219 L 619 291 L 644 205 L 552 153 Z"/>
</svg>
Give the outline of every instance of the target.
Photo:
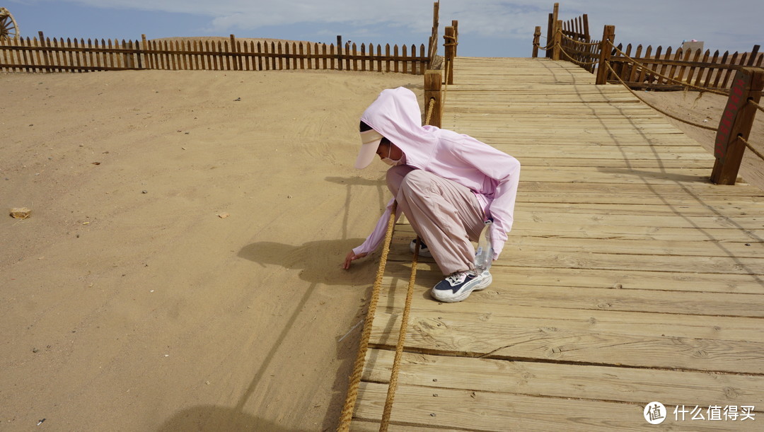
<svg viewBox="0 0 764 432">
<path fill-rule="evenodd" d="M 387 222 L 387 234 L 384 239 L 382 256 L 380 256 L 380 266 L 377 268 L 377 278 L 374 279 L 374 288 L 371 290 L 371 301 L 369 301 L 369 310 L 366 312 L 364 330 L 361 333 L 361 344 L 358 347 L 358 354 L 355 357 L 353 373 L 350 377 L 350 384 L 348 385 L 348 397 L 345 399 L 345 406 L 342 408 L 342 414 L 340 415 L 339 426 L 337 428 L 337 430 L 341 432 L 350 430 L 350 423 L 353 420 L 355 401 L 358 398 L 358 386 L 361 384 L 361 375 L 364 372 L 366 352 L 369 348 L 371 326 L 374 323 L 374 313 L 377 311 L 377 301 L 379 301 L 380 297 L 382 276 L 384 276 L 384 268 L 387 264 L 387 254 L 390 252 L 390 241 L 393 239 L 393 227 L 395 227 L 397 204 L 397 202 L 393 202 L 393 208 L 390 211 L 390 220 Z"/>
</svg>

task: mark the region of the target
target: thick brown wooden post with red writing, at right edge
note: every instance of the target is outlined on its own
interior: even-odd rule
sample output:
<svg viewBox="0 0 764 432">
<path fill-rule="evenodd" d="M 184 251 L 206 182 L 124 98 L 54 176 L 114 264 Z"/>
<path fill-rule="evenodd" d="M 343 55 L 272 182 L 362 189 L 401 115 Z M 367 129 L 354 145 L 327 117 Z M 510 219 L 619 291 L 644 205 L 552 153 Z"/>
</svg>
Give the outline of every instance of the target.
<svg viewBox="0 0 764 432">
<path fill-rule="evenodd" d="M 748 140 L 756 117 L 756 106 L 748 101 L 759 103 L 764 89 L 764 70 L 743 67 L 740 68 L 730 89 L 730 98 L 719 121 L 714 156 L 714 171 L 711 172 L 711 182 L 717 185 L 734 185 L 740 162 L 746 145 L 739 137 Z"/>
</svg>

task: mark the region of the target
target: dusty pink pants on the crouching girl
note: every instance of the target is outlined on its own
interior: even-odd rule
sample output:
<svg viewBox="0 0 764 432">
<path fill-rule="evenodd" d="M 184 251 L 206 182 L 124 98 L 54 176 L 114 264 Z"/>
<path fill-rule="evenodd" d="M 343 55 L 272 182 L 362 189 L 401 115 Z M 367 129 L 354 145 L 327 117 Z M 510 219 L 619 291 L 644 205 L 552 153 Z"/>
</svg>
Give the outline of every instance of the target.
<svg viewBox="0 0 764 432">
<path fill-rule="evenodd" d="M 474 269 L 470 240 L 478 241 L 484 215 L 470 189 L 405 165 L 387 170 L 387 188 L 444 275 Z"/>
</svg>

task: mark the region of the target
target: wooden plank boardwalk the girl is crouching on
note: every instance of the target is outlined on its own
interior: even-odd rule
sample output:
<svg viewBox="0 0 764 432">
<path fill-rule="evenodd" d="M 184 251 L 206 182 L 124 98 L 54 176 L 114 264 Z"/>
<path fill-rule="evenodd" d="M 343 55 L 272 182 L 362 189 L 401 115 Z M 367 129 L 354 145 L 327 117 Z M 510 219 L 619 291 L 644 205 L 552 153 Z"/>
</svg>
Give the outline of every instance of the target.
<svg viewBox="0 0 764 432">
<path fill-rule="evenodd" d="M 708 182 L 698 143 L 571 63 L 458 58 L 455 82 L 443 127 L 523 164 L 516 221 L 467 301 L 433 301 L 419 263 L 390 430 L 764 430 L 764 192 Z M 413 236 L 398 225 L 351 430 L 379 428 Z"/>
</svg>

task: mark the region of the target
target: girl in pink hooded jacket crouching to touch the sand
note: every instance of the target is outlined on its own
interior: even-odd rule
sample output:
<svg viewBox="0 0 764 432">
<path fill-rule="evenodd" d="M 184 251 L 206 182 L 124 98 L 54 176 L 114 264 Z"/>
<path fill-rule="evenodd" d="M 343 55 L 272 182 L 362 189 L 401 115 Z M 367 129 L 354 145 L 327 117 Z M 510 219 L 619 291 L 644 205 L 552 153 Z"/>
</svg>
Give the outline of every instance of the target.
<svg viewBox="0 0 764 432">
<path fill-rule="evenodd" d="M 377 249 L 397 201 L 396 218 L 401 211 L 406 214 L 446 276 L 432 288 L 432 297 L 462 301 L 492 281 L 487 270 L 475 272 L 471 241 L 478 240 L 485 221 L 493 220 L 494 260 L 499 257 L 512 229 L 520 163 L 468 135 L 422 126 L 421 119 L 416 95 L 403 87 L 381 92 L 361 116 L 355 168 L 364 169 L 379 156 L 391 166 L 387 187 L 393 199 L 343 267 L 349 269 L 352 261 Z"/>
</svg>

